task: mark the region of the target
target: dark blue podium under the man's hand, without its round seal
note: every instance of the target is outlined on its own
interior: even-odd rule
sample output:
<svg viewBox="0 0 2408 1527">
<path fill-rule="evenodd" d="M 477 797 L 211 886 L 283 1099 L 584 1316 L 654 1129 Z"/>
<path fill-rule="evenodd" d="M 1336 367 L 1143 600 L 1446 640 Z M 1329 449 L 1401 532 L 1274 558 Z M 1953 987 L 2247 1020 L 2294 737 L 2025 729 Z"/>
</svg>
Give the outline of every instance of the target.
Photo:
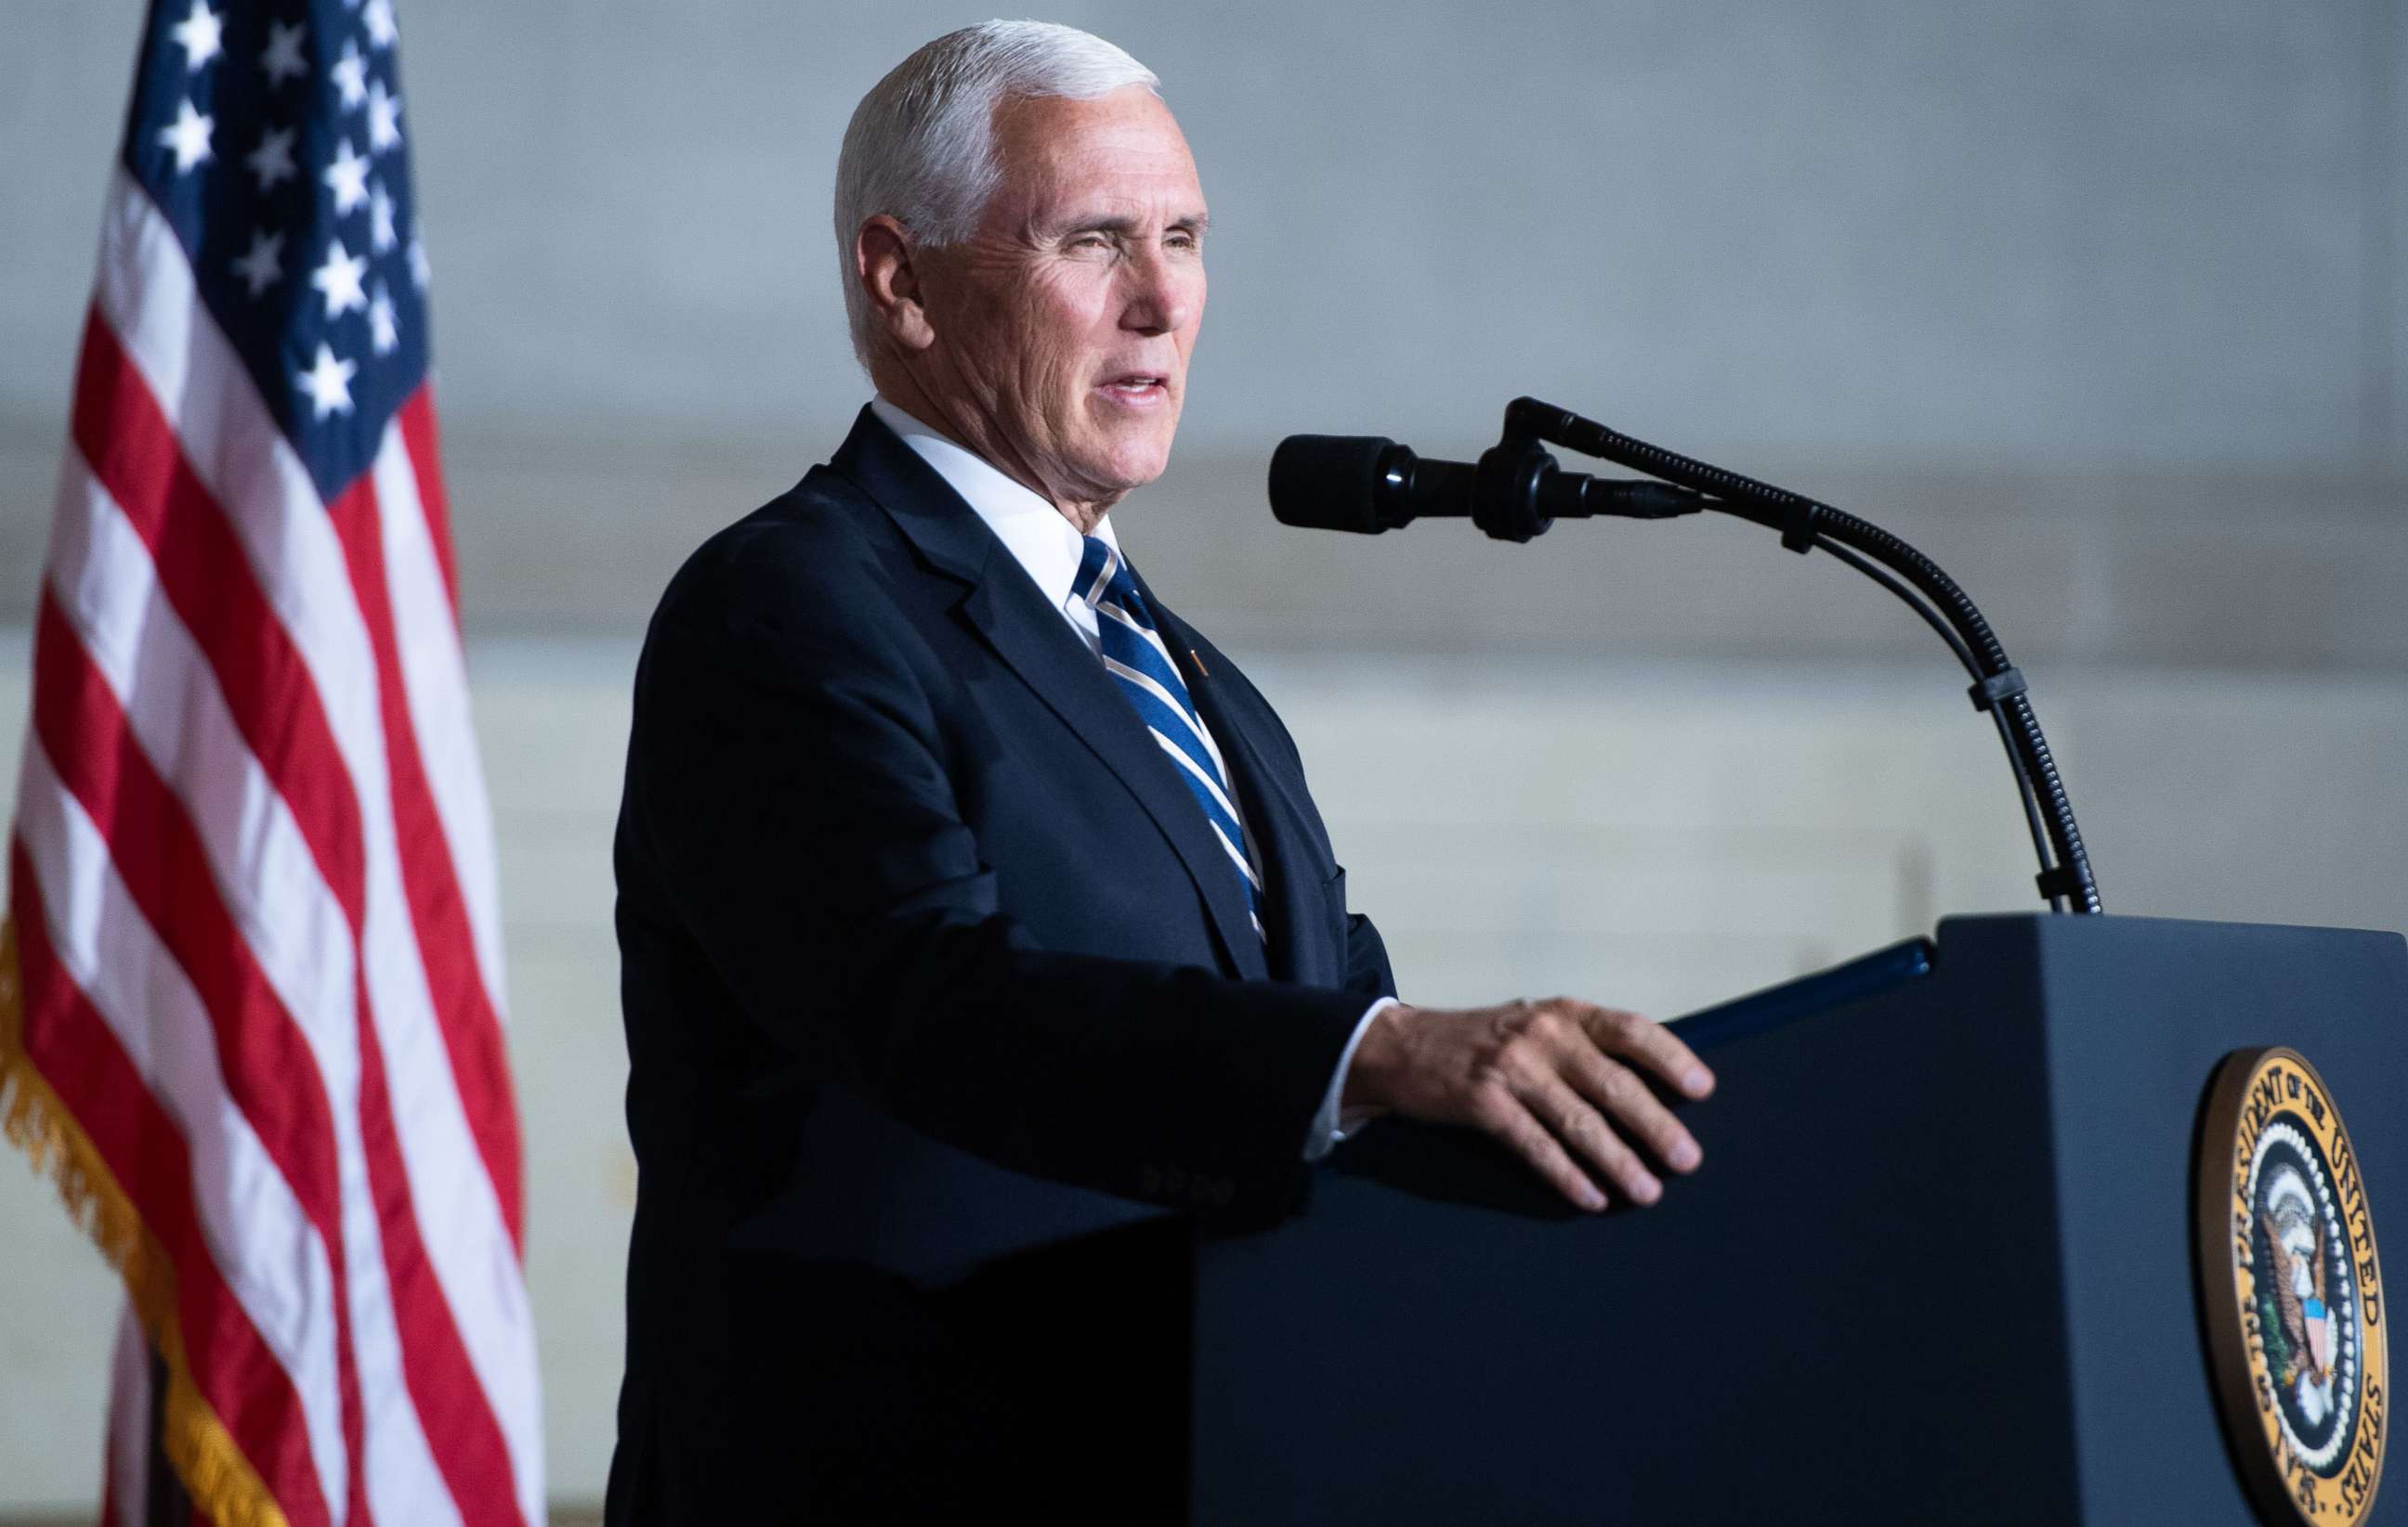
<svg viewBox="0 0 2408 1527">
<path fill-rule="evenodd" d="M 2230 1051 L 2300 1051 L 2408 1236 L 2398 935 L 1955 919 L 1681 1034 L 1719 1089 L 1657 1207 L 1582 1217 L 1382 1121 L 1300 1217 L 1182 1241 L 1192 1520 L 2259 1520 L 2201 1313 L 2203 1101 Z M 2408 1486 L 2372 1510 L 2408 1522 Z"/>
</svg>

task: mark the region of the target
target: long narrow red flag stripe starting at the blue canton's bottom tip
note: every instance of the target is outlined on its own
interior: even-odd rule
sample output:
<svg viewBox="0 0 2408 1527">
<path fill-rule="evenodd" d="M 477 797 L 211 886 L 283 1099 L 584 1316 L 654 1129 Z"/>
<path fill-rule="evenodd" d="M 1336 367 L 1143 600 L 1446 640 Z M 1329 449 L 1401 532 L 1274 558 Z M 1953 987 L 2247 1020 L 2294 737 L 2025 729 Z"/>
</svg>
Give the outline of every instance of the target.
<svg viewBox="0 0 2408 1527">
<path fill-rule="evenodd" d="M 424 488 L 421 488 L 424 493 Z M 393 784 L 393 834 L 402 856 L 402 887 L 409 895 L 409 919 L 417 926 L 419 955 L 426 962 L 426 986 L 443 1029 L 453 1082 L 467 1109 L 484 1171 L 494 1178 L 510 1246 L 523 1250 L 525 1205 L 518 1171 L 518 1106 L 510 1097 L 510 1058 L 501 1044 L 501 1017 L 484 991 L 477 969 L 477 943 L 460 897 L 460 875 L 436 815 L 436 796 L 426 784 L 409 721 L 409 695 L 402 688 L 402 654 L 393 632 L 393 601 L 385 592 L 385 541 L 376 498 L 376 479 L 361 474 L 332 505 L 335 536 L 352 570 L 352 592 L 368 623 L 376 647 L 376 695 L 385 721 L 385 760 Z"/>
</svg>

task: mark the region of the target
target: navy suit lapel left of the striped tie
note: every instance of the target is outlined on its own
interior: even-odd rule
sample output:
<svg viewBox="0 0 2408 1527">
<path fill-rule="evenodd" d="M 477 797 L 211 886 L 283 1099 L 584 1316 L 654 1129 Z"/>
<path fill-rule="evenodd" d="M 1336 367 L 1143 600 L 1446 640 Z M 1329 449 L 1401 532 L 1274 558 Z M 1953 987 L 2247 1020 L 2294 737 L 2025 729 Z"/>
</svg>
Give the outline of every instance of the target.
<svg viewBox="0 0 2408 1527">
<path fill-rule="evenodd" d="M 1267 976 L 1238 873 L 1178 777 L 1178 765 L 1163 757 L 1103 664 L 1062 611 L 1050 608 L 1021 575 L 995 531 L 869 409 L 862 409 L 831 464 L 893 517 L 922 558 L 968 584 L 961 616 L 1153 818 L 1204 897 L 1230 969 L 1247 979 Z"/>
</svg>

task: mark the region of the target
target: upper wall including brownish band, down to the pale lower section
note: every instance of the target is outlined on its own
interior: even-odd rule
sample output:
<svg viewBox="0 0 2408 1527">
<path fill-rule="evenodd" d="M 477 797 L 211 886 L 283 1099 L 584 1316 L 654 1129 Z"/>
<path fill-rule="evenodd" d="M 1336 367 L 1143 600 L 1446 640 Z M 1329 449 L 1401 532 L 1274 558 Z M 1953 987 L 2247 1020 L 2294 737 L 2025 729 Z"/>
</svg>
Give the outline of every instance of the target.
<svg viewBox="0 0 2408 1527">
<path fill-rule="evenodd" d="M 1233 637 L 1919 642 L 1729 527 L 1262 524 L 1288 430 L 1462 457 L 1536 392 L 1895 522 L 2035 659 L 2408 656 L 2391 0 L 1132 12 L 1062 14 L 1165 75 L 1216 224 L 1180 459 L 1122 522 Z M 0 17 L 0 565 L 39 551 L 135 14 Z M 405 5 L 474 630 L 636 632 L 828 450 L 833 144 L 970 17 Z"/>
</svg>

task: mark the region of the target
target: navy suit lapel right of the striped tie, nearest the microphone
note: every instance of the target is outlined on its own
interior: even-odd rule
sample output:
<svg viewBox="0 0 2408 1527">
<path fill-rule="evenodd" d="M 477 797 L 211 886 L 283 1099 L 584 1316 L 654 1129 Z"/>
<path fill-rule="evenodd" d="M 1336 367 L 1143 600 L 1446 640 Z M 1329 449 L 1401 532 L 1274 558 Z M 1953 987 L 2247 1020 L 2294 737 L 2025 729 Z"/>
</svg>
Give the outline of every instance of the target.
<svg viewBox="0 0 2408 1527">
<path fill-rule="evenodd" d="M 1286 774 L 1276 772 L 1257 745 L 1264 726 L 1259 719 L 1243 714 L 1255 707 L 1247 705 L 1243 693 L 1218 683 L 1211 671 L 1199 666 L 1197 647 L 1204 644 L 1202 637 L 1197 637 L 1192 625 L 1163 608 L 1163 601 L 1146 587 L 1144 575 L 1137 575 L 1134 568 L 1132 575 L 1137 577 L 1139 594 L 1146 599 L 1146 608 L 1153 611 L 1153 620 L 1163 630 L 1163 644 L 1170 647 L 1170 656 L 1180 664 L 1180 676 L 1197 702 L 1197 714 L 1204 717 L 1204 726 L 1221 743 L 1221 757 L 1228 762 L 1233 777 L 1230 786 L 1238 791 L 1245 825 L 1255 834 L 1255 849 L 1262 858 L 1262 914 L 1264 926 L 1271 931 L 1271 976 L 1303 986 L 1341 986 L 1346 979 L 1341 955 L 1329 950 L 1322 938 L 1327 909 L 1322 907 L 1322 861 L 1312 849 L 1312 830 L 1305 827 L 1303 808 L 1291 796 Z M 1296 794 L 1303 794 L 1300 779 L 1296 782 Z"/>
</svg>

